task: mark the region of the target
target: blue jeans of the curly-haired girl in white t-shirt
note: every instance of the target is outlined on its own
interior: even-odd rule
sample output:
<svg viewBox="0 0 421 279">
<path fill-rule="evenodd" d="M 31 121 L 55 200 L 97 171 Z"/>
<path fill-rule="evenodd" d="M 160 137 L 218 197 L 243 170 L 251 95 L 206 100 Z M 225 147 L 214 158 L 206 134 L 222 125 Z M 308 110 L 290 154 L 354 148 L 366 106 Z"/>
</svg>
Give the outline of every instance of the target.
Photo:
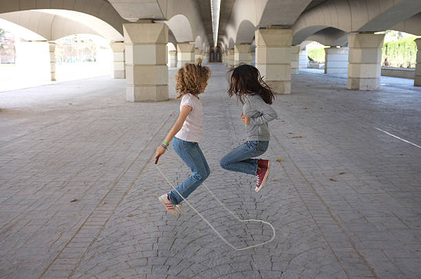
<svg viewBox="0 0 421 279">
<path fill-rule="evenodd" d="M 193 172 L 188 179 L 176 188 L 184 198 L 187 198 L 191 192 L 196 190 L 196 188 L 202 184 L 206 178 L 208 178 L 210 174 L 209 166 L 197 142 L 186 142 L 185 140 L 174 137 L 173 148 L 175 153 L 180 156 L 184 163 L 186 163 Z M 168 194 L 171 203 L 181 203 L 183 198 L 180 197 L 180 194 L 178 194 L 175 190 L 172 190 Z"/>
</svg>

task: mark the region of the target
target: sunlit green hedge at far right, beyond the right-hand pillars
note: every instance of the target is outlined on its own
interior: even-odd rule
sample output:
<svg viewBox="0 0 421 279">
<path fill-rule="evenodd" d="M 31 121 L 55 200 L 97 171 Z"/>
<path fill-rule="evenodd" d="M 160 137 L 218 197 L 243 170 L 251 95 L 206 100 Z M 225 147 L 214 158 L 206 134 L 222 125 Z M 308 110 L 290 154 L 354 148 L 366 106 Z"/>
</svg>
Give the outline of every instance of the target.
<svg viewBox="0 0 421 279">
<path fill-rule="evenodd" d="M 383 44 L 382 66 L 415 68 L 417 59 L 417 45 L 413 41 L 416 37 L 401 38 Z M 387 59 L 387 62 L 385 61 Z"/>
</svg>

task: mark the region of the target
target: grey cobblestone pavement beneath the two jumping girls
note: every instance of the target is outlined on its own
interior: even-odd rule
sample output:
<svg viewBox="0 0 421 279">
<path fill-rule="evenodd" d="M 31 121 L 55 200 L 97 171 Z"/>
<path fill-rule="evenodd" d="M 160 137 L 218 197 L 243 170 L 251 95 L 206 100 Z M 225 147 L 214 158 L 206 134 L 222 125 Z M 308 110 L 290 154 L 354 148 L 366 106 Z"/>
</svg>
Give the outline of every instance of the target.
<svg viewBox="0 0 421 279">
<path fill-rule="evenodd" d="M 293 76 L 256 193 L 255 177 L 219 166 L 244 127 L 226 67 L 210 67 L 205 184 L 241 218 L 272 223 L 274 241 L 235 252 L 186 204 L 164 212 L 171 188 L 152 157 L 178 100 L 126 102 L 123 80 L 63 82 L 0 94 L 0 278 L 421 277 L 421 148 L 382 132 L 421 145 L 420 88 L 382 78 L 380 91 L 356 92 L 339 76 Z M 159 166 L 175 184 L 189 173 L 171 148 Z M 189 201 L 238 247 L 272 236 L 203 187 Z"/>
</svg>

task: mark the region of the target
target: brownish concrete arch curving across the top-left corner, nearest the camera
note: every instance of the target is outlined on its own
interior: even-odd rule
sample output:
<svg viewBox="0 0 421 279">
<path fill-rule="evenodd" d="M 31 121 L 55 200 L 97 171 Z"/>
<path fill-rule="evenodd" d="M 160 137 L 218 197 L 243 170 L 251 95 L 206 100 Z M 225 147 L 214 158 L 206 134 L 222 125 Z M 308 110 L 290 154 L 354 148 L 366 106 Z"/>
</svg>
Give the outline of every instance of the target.
<svg viewBox="0 0 421 279">
<path fill-rule="evenodd" d="M 120 14 L 108 1 L 103 0 L 78 0 L 78 1 L 28 1 L 28 0 L 0 0 L 1 13 L 19 12 L 25 10 L 67 10 L 89 14 L 105 23 L 108 23 L 120 34 L 123 34 L 122 19 Z"/>
</svg>

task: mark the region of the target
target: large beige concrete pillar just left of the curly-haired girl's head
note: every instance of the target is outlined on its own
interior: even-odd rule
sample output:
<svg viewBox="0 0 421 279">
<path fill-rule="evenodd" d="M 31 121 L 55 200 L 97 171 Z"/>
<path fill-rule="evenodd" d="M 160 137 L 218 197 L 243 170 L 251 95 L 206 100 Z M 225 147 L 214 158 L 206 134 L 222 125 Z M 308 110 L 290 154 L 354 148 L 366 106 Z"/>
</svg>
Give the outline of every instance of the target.
<svg viewBox="0 0 421 279">
<path fill-rule="evenodd" d="M 124 23 L 127 101 L 168 100 L 168 26 Z"/>
</svg>

